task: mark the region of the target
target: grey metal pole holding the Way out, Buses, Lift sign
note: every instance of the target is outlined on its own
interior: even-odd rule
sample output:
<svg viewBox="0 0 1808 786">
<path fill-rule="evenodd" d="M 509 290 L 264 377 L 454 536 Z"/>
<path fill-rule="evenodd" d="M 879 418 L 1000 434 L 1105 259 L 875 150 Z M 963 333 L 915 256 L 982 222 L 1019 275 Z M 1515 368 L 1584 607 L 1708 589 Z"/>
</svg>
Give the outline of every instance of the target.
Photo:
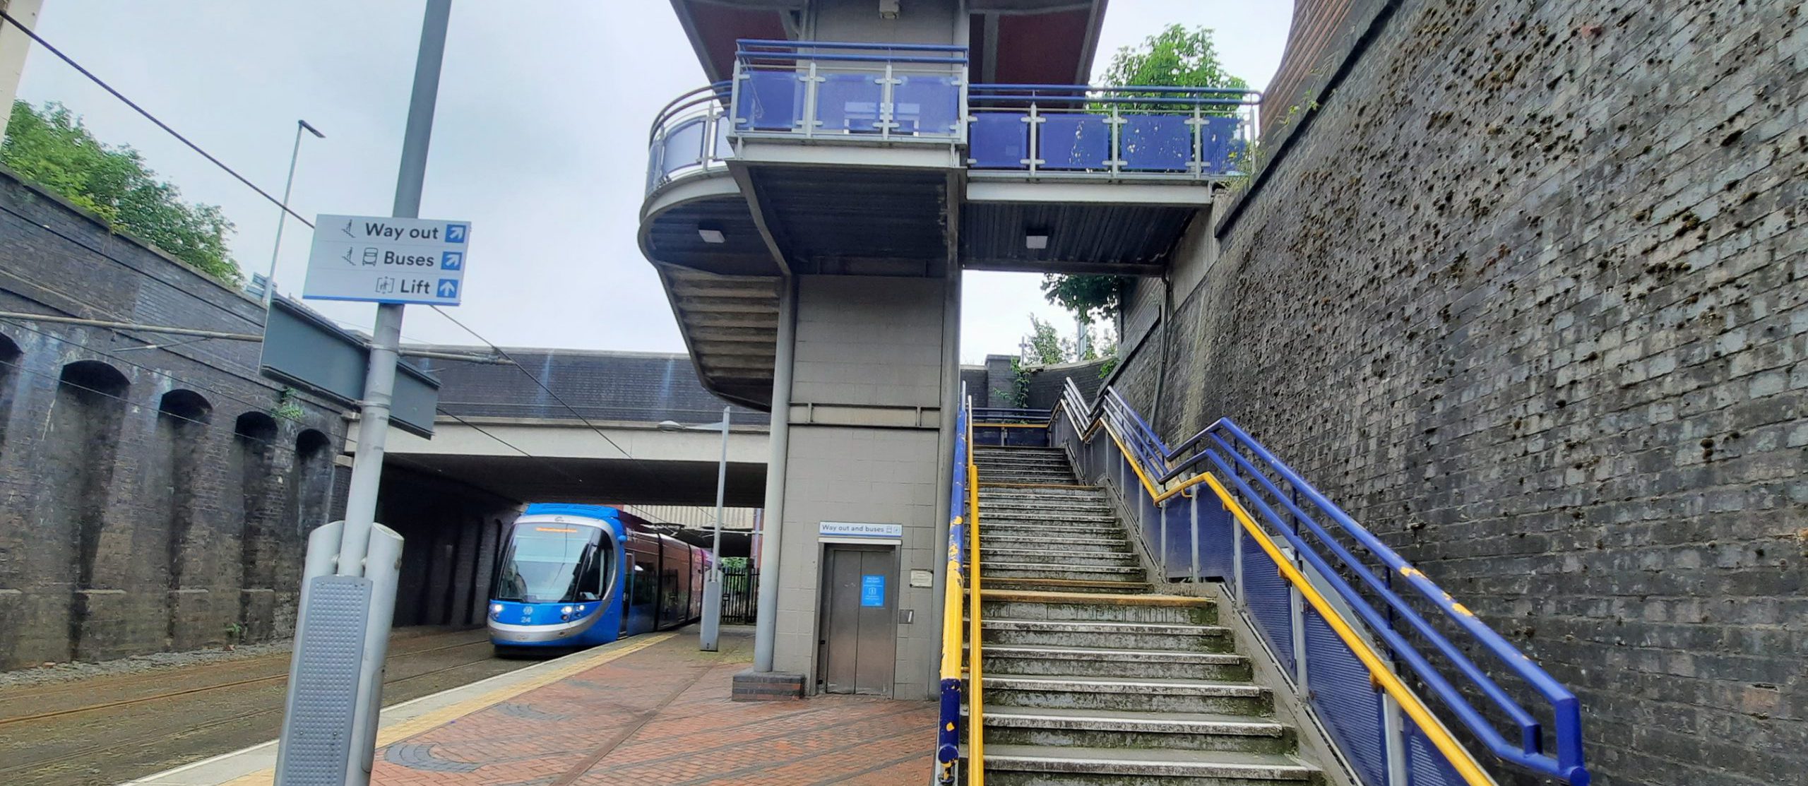
<svg viewBox="0 0 1808 786">
<path fill-rule="evenodd" d="M 439 65 L 445 60 L 447 23 L 452 18 L 452 0 L 427 0 L 421 20 L 421 49 L 414 58 L 414 92 L 409 96 L 409 125 L 401 136 L 401 166 L 396 173 L 398 219 L 418 219 L 421 213 L 421 186 L 427 179 L 427 145 L 434 132 L 434 103 L 439 98 Z M 383 441 L 389 435 L 389 405 L 396 387 L 396 351 L 401 347 L 401 304 L 378 304 L 376 329 L 371 336 L 371 370 L 363 381 L 363 401 L 358 414 L 358 455 L 351 466 L 351 490 L 345 493 L 345 535 L 340 547 L 338 573 L 362 575 L 371 540 L 371 522 L 376 520 L 376 490 L 383 477 Z M 351 564 L 347 564 L 351 562 Z"/>
</svg>

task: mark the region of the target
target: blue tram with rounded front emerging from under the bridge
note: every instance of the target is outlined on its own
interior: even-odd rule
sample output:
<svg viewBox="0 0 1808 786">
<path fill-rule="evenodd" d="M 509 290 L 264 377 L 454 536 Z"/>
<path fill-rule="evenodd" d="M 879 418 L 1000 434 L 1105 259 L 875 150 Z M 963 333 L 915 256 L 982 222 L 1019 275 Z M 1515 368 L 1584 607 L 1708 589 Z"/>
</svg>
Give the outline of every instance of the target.
<svg viewBox="0 0 1808 786">
<path fill-rule="evenodd" d="M 597 504 L 530 504 L 490 584 L 497 652 L 593 647 L 702 618 L 709 551 Z"/>
</svg>

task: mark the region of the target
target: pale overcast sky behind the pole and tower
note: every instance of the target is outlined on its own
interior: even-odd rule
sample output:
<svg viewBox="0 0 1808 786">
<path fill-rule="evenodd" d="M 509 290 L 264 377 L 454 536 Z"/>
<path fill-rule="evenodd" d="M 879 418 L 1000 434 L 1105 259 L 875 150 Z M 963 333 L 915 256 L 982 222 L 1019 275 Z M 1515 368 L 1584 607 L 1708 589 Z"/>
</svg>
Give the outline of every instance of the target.
<svg viewBox="0 0 1808 786">
<path fill-rule="evenodd" d="M 45 0 L 38 33 L 271 193 L 302 139 L 297 213 L 387 215 L 407 112 L 421 2 Z M 1217 31 L 1229 72 L 1262 89 L 1285 47 L 1293 4 L 1112 0 L 1096 70 L 1170 22 Z M 457 0 L 421 215 L 466 219 L 472 255 L 459 320 L 519 347 L 682 352 L 671 307 L 635 244 L 647 123 L 703 83 L 665 0 Z M 49 52 L 34 51 L 20 98 L 61 101 L 107 143 L 128 143 L 190 201 L 237 224 L 240 267 L 269 264 L 277 208 L 132 114 Z M 282 237 L 280 291 L 298 291 L 309 229 Z M 1041 300 L 1040 276 L 969 273 L 964 361 L 1014 352 Z M 315 302 L 369 329 L 372 305 Z M 407 340 L 476 343 L 430 309 Z"/>
</svg>

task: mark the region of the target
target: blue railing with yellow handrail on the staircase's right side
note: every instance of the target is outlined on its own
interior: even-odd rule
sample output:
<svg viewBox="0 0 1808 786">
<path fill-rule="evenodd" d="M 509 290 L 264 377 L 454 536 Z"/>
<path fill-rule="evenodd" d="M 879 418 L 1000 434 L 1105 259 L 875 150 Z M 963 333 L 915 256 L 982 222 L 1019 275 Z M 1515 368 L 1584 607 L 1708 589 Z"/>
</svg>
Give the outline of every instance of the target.
<svg viewBox="0 0 1808 786">
<path fill-rule="evenodd" d="M 1499 759 L 1571 786 L 1589 782 L 1575 696 L 1233 421 L 1219 419 L 1168 448 L 1116 390 L 1088 403 L 1069 383 L 1049 430 L 1050 444 L 1069 448 L 1087 477 L 1117 484 L 1166 576 L 1226 580 L 1363 784 L 1405 782 L 1398 777 L 1493 782 L 1401 674 L 1428 688 Z M 1096 439 L 1101 430 L 1110 439 Z M 1191 472 L 1201 464 L 1208 470 Z M 1137 486 L 1144 493 L 1134 493 Z M 1199 486 L 1220 504 L 1202 504 L 1213 497 Z M 1358 558 L 1329 528 L 1370 560 Z M 1401 593 L 1436 607 L 1466 645 L 1492 654 L 1544 699 L 1555 753 L 1544 752 L 1544 726 Z M 1425 641 L 1428 652 L 1407 634 Z M 1396 672 L 1392 663 L 1405 670 Z M 1463 685 L 1454 685 L 1446 670 Z M 1352 681 L 1360 674 L 1378 690 Z M 1484 697 L 1490 712 L 1517 726 L 1519 739 L 1508 741 L 1468 696 Z"/>
</svg>

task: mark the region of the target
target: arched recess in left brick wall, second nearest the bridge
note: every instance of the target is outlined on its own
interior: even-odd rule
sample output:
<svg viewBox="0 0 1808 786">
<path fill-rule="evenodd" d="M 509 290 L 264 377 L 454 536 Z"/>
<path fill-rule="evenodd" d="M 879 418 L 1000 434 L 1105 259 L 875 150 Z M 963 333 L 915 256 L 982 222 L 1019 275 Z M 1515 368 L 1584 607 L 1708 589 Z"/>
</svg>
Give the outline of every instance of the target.
<svg viewBox="0 0 1808 786">
<path fill-rule="evenodd" d="M 264 412 L 246 412 L 233 423 L 233 464 L 239 468 L 239 499 L 244 528 L 239 533 L 239 636 L 260 641 L 275 631 L 275 576 L 282 569 L 277 529 L 282 502 L 275 491 L 284 486 L 277 463 L 277 419 Z"/>
</svg>

